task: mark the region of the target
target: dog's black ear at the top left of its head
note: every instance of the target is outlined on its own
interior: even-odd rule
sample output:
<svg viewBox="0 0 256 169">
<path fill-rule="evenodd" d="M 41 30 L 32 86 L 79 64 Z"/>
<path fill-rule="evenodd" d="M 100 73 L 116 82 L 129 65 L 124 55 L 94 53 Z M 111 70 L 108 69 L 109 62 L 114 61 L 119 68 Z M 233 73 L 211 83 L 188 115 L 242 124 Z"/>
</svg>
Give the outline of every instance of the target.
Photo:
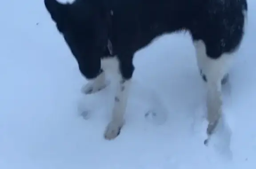
<svg viewBox="0 0 256 169">
<path fill-rule="evenodd" d="M 57 0 L 44 0 L 44 5 L 47 11 L 50 13 L 52 20 L 56 23 L 62 22 L 65 20 L 65 17 L 68 15 L 68 8 L 70 4 L 61 4 Z"/>
</svg>

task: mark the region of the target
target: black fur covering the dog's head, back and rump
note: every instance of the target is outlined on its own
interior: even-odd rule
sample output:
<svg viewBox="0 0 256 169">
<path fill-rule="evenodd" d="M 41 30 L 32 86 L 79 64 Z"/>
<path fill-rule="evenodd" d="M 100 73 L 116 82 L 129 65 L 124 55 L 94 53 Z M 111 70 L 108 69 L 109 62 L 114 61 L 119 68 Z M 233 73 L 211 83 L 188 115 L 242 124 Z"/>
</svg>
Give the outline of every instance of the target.
<svg viewBox="0 0 256 169">
<path fill-rule="evenodd" d="M 207 54 L 217 59 L 237 49 L 243 37 L 246 0 L 44 0 L 58 30 L 87 79 L 100 74 L 100 58 L 120 61 L 123 79 L 132 77 L 133 55 L 164 33 L 186 30 L 202 39 Z M 113 15 L 112 15 L 113 14 Z M 111 56 L 109 56 L 111 57 Z"/>
</svg>

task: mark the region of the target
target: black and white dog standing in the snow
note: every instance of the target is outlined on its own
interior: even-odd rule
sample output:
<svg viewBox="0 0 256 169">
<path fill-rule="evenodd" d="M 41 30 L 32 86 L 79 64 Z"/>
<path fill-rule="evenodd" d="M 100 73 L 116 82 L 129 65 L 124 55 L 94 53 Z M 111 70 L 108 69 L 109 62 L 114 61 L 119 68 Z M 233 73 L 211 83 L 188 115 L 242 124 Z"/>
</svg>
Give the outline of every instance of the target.
<svg viewBox="0 0 256 169">
<path fill-rule="evenodd" d="M 105 63 L 116 63 L 119 86 L 112 121 L 104 137 L 116 138 L 124 125 L 136 51 L 164 33 L 186 30 L 207 82 L 210 136 L 222 115 L 221 84 L 244 36 L 246 0 L 75 0 L 44 4 L 90 83 L 87 94 L 105 86 Z"/>
</svg>

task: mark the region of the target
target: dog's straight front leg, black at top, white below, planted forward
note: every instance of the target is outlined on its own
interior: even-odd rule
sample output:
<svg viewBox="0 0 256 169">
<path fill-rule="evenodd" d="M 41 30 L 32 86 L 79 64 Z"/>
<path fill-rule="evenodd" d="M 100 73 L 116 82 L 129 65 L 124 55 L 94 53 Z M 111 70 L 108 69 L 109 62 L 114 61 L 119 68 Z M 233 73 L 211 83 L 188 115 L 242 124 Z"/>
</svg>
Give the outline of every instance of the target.
<svg viewBox="0 0 256 169">
<path fill-rule="evenodd" d="M 130 89 L 134 66 L 132 64 L 133 55 L 122 55 L 118 57 L 118 85 L 115 95 L 115 103 L 112 110 L 112 119 L 106 127 L 104 138 L 111 140 L 120 134 L 120 130 L 124 125 L 124 113 L 128 101 L 128 93 Z"/>
</svg>

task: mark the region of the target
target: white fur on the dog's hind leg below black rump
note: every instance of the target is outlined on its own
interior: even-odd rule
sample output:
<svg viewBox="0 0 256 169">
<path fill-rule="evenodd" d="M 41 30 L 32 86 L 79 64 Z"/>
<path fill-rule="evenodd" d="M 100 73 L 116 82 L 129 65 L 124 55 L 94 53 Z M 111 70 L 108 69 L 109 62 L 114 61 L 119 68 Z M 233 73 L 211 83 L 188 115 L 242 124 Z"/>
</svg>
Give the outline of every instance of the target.
<svg viewBox="0 0 256 169">
<path fill-rule="evenodd" d="M 196 41 L 194 46 L 198 67 L 207 78 L 208 135 L 211 135 L 222 116 L 221 80 L 228 73 L 234 56 L 223 54 L 218 59 L 211 59 L 206 54 L 206 47 L 202 40 Z"/>
</svg>

